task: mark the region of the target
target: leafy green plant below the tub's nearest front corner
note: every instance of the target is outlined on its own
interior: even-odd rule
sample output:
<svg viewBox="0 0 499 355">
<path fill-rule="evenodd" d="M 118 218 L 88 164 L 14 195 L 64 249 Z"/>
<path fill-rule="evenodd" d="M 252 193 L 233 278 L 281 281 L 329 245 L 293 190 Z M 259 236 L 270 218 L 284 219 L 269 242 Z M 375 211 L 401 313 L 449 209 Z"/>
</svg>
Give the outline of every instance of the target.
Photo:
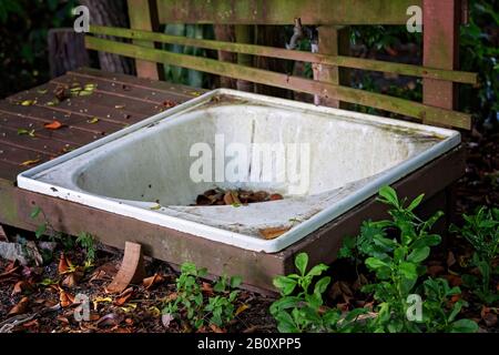
<svg viewBox="0 0 499 355">
<path fill-rule="evenodd" d="M 324 306 L 323 294 L 329 285 L 330 277 L 324 276 L 310 290 L 314 277 L 320 276 L 328 266 L 318 264 L 307 273 L 308 255 L 301 253 L 295 258 L 299 274 L 277 276 L 274 285 L 281 291 L 282 297 L 271 306 L 271 314 L 277 321 L 282 333 L 302 332 L 354 332 L 359 325 L 357 318 L 367 313 L 358 308 L 345 317 L 339 310 Z M 295 291 L 298 291 L 296 293 Z"/>
</svg>

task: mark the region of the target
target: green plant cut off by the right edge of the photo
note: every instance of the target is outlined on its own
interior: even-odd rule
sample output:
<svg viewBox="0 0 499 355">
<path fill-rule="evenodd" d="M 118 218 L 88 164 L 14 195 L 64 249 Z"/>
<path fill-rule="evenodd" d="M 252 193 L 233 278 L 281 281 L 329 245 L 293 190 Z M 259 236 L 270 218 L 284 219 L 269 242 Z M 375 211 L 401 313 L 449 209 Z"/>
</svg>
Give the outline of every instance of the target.
<svg viewBox="0 0 499 355">
<path fill-rule="evenodd" d="M 462 227 L 452 225 L 451 232 L 462 235 L 475 248 L 471 264 L 481 275 L 480 282 L 473 275 L 465 275 L 465 284 L 473 290 L 473 293 L 487 304 L 499 301 L 496 291 L 490 290 L 490 281 L 493 274 L 499 274 L 498 267 L 493 267 L 493 260 L 499 256 L 499 209 L 479 207 L 473 215 L 464 215 Z"/>
</svg>

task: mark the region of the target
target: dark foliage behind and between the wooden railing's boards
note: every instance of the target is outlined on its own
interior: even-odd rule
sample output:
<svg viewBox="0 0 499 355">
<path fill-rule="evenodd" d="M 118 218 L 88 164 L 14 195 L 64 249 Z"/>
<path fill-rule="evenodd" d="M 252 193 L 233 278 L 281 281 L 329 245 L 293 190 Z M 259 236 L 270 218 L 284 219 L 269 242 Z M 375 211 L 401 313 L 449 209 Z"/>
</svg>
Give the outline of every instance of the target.
<svg viewBox="0 0 499 355">
<path fill-rule="evenodd" d="M 50 79 L 48 30 L 72 26 L 71 9 L 75 4 L 78 0 L 0 0 L 0 98 Z M 189 26 L 182 28 L 186 36 L 213 37 L 213 30 L 197 30 L 198 28 Z M 286 33 L 289 30 L 292 31 L 285 29 Z M 172 28 L 166 28 L 165 31 L 172 31 Z M 420 49 L 420 36 L 408 33 L 404 27 L 354 27 L 352 30 L 352 45 L 361 48 L 364 55 L 386 59 L 394 48 L 411 43 Z M 307 47 L 309 43 L 307 45 L 305 41 L 301 49 Z M 462 85 L 460 109 L 473 113 L 480 123 L 495 125 L 499 112 L 499 0 L 470 0 L 470 23 L 461 27 L 460 52 L 461 69 L 476 71 L 480 75 L 478 88 Z M 203 53 L 204 51 L 197 51 L 193 54 L 205 55 Z M 420 51 L 417 52 L 419 53 Z M 169 80 L 196 87 L 212 85 L 210 77 L 202 77 L 198 72 L 179 72 L 173 67 L 167 67 L 166 71 Z M 309 75 L 310 71 L 305 70 L 305 74 L 307 73 Z M 395 83 L 384 84 L 381 88 L 370 75 L 360 75 L 354 78 L 353 84 L 411 100 L 420 100 L 421 95 L 420 81 L 417 80 L 409 85 Z"/>
</svg>

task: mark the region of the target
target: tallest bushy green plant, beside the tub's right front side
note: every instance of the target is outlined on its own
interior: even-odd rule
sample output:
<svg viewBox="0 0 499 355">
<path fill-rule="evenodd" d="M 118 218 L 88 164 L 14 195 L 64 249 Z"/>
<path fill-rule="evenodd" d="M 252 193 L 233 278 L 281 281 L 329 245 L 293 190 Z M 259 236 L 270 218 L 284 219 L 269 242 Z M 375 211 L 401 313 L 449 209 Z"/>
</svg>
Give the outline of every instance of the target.
<svg viewBox="0 0 499 355">
<path fill-rule="evenodd" d="M 430 247 L 441 240 L 439 235 L 429 233 L 441 212 L 427 221 L 414 213 L 422 197 L 421 194 L 407 203 L 406 199 L 399 200 L 391 187 L 381 187 L 378 201 L 389 206 L 391 220 L 365 222 L 357 239 L 347 240 L 340 250 L 340 257 L 354 257 L 357 263 L 366 257 L 364 264 L 374 273 L 374 282 L 363 287 L 363 292 L 373 293 L 378 302 L 377 316 L 366 323 L 369 331 L 419 333 L 477 329 L 471 321 L 454 321 L 464 303 L 450 306 L 447 297 L 460 291 L 449 290 L 444 280 L 429 278 L 424 284 L 427 300 L 422 303 L 422 320 L 415 322 L 407 317 L 408 300 L 421 293 L 418 281 L 426 274 L 422 262 L 430 254 Z"/>
</svg>

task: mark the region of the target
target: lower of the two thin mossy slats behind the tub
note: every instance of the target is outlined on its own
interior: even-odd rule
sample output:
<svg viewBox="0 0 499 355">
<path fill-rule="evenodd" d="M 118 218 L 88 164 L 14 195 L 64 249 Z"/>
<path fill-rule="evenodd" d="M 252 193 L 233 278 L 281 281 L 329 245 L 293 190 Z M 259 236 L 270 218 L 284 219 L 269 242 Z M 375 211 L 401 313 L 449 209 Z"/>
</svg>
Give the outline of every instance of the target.
<svg viewBox="0 0 499 355">
<path fill-rule="evenodd" d="M 386 110 L 419 120 L 438 121 L 457 128 L 469 129 L 470 115 L 450 110 L 424 105 L 408 100 L 393 98 L 379 93 L 358 89 L 339 87 L 330 83 L 291 77 L 266 70 L 248 68 L 244 65 L 220 62 L 213 59 L 198 58 L 166 51 L 153 50 L 139 45 L 113 42 L 99 38 L 85 38 L 86 47 L 93 50 L 110 51 L 131 58 L 140 58 L 149 61 L 165 62 L 182 65 L 189 69 L 201 70 L 213 74 L 223 74 L 236 79 L 248 80 L 257 83 L 291 89 L 325 98 L 335 98 L 349 103 L 358 103 L 380 110 Z"/>
</svg>

